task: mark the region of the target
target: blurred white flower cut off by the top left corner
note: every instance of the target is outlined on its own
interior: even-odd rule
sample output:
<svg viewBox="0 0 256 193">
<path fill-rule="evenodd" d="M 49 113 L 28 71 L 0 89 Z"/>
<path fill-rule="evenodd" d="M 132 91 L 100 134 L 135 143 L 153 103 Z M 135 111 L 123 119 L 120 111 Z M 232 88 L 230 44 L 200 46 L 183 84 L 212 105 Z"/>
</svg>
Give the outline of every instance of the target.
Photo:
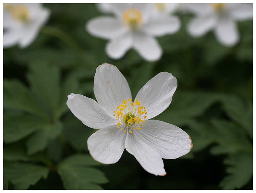
<svg viewBox="0 0 256 193">
<path fill-rule="evenodd" d="M 4 48 L 30 45 L 49 16 L 41 4 L 4 4 Z"/>
</svg>

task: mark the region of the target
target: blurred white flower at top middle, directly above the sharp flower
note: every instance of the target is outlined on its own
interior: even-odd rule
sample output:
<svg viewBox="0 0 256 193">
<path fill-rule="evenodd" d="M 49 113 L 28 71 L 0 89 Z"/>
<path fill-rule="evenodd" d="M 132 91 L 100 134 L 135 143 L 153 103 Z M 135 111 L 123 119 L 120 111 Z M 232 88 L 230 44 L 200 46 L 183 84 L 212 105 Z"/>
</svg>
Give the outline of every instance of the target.
<svg viewBox="0 0 256 193">
<path fill-rule="evenodd" d="M 180 20 L 175 16 L 155 18 L 154 4 L 108 4 L 107 10 L 114 16 L 93 18 L 86 29 L 109 40 L 106 53 L 113 59 L 120 59 L 134 48 L 147 61 L 159 60 L 163 51 L 155 37 L 175 33 L 180 28 Z"/>
</svg>

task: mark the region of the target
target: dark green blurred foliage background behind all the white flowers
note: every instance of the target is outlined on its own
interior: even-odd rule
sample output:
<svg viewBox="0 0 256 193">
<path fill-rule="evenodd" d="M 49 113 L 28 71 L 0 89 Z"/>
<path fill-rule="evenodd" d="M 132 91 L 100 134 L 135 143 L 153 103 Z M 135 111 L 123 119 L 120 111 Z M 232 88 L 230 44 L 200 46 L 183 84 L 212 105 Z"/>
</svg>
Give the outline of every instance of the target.
<svg viewBox="0 0 256 193">
<path fill-rule="evenodd" d="M 4 49 L 4 189 L 252 189 L 252 20 L 239 22 L 241 41 L 220 45 L 212 32 L 191 38 L 181 29 L 158 38 L 157 62 L 134 50 L 108 58 L 105 40 L 85 31 L 101 13 L 94 4 L 44 4 L 51 16 L 25 49 Z M 95 99 L 97 66 L 115 65 L 132 96 L 157 73 L 178 80 L 171 105 L 156 120 L 185 130 L 187 155 L 164 159 L 167 174 L 147 173 L 124 150 L 112 165 L 93 161 L 87 138 L 95 130 L 67 108 L 67 95 Z"/>
</svg>

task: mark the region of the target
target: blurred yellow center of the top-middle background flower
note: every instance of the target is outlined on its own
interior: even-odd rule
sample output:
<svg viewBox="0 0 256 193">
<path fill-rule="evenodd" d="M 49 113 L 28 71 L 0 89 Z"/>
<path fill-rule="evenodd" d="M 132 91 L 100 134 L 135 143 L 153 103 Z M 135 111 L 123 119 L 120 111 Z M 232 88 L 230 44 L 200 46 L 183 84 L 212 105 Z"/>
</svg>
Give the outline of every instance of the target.
<svg viewBox="0 0 256 193">
<path fill-rule="evenodd" d="M 129 27 L 132 30 L 135 30 L 142 25 L 143 18 L 139 10 L 130 8 L 123 12 L 122 21 L 125 26 Z"/>
</svg>

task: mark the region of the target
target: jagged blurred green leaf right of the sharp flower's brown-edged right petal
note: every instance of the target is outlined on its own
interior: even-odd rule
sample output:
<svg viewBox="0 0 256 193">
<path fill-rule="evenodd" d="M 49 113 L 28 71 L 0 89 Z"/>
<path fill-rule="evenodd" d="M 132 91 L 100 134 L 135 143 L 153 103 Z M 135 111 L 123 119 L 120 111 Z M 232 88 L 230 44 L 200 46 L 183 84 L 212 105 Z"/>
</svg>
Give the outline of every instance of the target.
<svg viewBox="0 0 256 193">
<path fill-rule="evenodd" d="M 214 135 L 217 146 L 212 148 L 212 154 L 236 153 L 252 151 L 252 144 L 244 130 L 237 124 L 226 120 L 213 119 Z"/>
</svg>

